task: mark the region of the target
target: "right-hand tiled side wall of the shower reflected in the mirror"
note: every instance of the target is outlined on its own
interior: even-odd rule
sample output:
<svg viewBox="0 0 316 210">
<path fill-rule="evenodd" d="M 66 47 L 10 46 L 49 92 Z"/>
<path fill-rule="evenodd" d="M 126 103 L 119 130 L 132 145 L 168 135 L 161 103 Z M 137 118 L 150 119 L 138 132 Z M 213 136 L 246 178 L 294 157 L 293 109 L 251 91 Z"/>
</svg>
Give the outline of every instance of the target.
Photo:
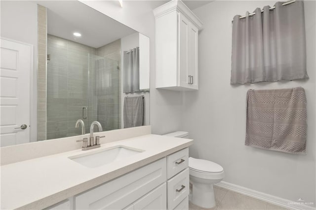
<svg viewBox="0 0 316 210">
<path fill-rule="evenodd" d="M 97 49 L 97 120 L 105 131 L 120 128 L 120 39 Z M 111 85 L 109 84 L 111 82 Z"/>
</svg>

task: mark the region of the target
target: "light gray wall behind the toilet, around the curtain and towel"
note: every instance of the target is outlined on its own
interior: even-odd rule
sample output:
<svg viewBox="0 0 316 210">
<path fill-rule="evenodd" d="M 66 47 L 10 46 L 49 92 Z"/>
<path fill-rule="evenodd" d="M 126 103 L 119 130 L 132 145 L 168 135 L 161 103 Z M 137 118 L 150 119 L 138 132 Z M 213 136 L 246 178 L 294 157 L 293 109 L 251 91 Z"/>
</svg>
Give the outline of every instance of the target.
<svg viewBox="0 0 316 210">
<path fill-rule="evenodd" d="M 199 90 L 184 93 L 182 130 L 190 132 L 193 157 L 223 166 L 224 181 L 291 201 L 315 202 L 315 1 L 305 1 L 308 80 L 230 85 L 232 19 L 273 1 L 213 1 L 194 10 L 199 33 Z M 302 86 L 308 111 L 307 154 L 244 145 L 248 89 Z"/>
</svg>

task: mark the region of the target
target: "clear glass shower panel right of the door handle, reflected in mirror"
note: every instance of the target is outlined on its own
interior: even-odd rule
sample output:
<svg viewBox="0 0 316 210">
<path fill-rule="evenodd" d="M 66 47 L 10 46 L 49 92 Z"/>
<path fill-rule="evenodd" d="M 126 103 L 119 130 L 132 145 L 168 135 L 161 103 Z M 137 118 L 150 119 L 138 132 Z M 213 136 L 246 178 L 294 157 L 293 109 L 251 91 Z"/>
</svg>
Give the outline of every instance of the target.
<svg viewBox="0 0 316 210">
<path fill-rule="evenodd" d="M 89 58 L 89 124 L 97 120 L 101 123 L 103 131 L 119 129 L 119 63 L 92 54 Z"/>
</svg>

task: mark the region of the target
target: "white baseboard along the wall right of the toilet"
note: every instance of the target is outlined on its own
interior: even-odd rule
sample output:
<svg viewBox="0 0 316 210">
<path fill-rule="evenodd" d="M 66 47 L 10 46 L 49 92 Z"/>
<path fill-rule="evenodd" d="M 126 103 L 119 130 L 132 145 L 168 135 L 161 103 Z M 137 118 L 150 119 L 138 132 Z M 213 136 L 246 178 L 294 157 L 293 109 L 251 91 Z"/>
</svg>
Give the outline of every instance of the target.
<svg viewBox="0 0 316 210">
<path fill-rule="evenodd" d="M 274 204 L 276 206 L 280 206 L 283 208 L 291 209 L 291 210 L 315 210 L 315 207 L 309 206 L 309 205 L 300 205 L 297 201 L 290 201 L 287 199 L 279 198 L 273 195 L 269 195 L 266 193 L 258 192 L 246 187 L 242 187 L 236 184 L 232 184 L 226 181 L 218 182 L 217 184 L 214 184 L 215 186 L 231 190 L 261 201 L 265 201 L 271 204 Z M 295 205 L 296 204 L 296 205 Z"/>
</svg>

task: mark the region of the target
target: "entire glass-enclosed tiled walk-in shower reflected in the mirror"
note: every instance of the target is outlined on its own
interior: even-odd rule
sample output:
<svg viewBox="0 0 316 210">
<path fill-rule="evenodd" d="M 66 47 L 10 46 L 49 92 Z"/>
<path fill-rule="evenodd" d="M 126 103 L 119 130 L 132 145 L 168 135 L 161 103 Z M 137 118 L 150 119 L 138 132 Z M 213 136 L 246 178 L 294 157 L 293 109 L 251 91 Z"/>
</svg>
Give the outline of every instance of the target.
<svg viewBox="0 0 316 210">
<path fill-rule="evenodd" d="M 80 135 L 78 119 L 86 133 L 95 120 L 104 131 L 119 129 L 119 61 L 98 56 L 93 47 L 47 37 L 47 139 Z"/>
</svg>

